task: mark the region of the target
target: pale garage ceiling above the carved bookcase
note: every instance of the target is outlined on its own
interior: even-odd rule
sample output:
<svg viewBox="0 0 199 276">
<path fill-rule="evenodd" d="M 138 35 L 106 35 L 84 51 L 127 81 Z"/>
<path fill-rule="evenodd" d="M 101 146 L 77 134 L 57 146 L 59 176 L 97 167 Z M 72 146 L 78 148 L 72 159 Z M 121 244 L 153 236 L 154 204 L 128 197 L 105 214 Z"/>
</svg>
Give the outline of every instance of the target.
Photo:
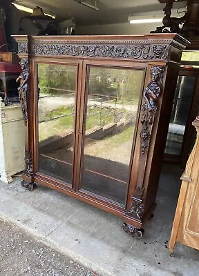
<svg viewBox="0 0 199 276">
<path fill-rule="evenodd" d="M 89 0 L 85 1 L 89 2 Z M 143 12 L 155 14 L 165 6 L 158 0 L 97 0 L 97 8 L 99 8 L 97 11 L 77 3 L 77 0 L 17 0 L 15 3 L 28 8 L 40 6 L 44 12 L 55 14 L 58 21 L 75 17 L 77 25 L 124 23 L 132 14 L 138 15 Z M 182 7 L 183 2 L 177 2 L 174 5 Z"/>
</svg>

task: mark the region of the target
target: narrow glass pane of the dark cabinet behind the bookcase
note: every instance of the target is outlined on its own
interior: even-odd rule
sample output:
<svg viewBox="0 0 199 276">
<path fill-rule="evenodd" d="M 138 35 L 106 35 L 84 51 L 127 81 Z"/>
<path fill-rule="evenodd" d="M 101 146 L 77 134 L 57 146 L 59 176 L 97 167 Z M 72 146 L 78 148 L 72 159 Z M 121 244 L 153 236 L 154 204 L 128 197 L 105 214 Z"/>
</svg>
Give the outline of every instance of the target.
<svg viewBox="0 0 199 276">
<path fill-rule="evenodd" d="M 164 152 L 180 155 L 196 77 L 179 76 Z"/>
</svg>

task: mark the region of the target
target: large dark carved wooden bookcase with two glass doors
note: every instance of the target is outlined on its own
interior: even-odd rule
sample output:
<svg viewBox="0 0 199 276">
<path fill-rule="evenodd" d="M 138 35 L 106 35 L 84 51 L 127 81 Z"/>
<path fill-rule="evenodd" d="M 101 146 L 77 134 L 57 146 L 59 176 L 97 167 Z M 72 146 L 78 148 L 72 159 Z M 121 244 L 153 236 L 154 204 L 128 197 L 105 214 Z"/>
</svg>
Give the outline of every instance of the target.
<svg viewBox="0 0 199 276">
<path fill-rule="evenodd" d="M 124 218 L 155 209 L 182 50 L 176 34 L 15 36 L 26 125 L 22 186 L 48 186 Z"/>
</svg>

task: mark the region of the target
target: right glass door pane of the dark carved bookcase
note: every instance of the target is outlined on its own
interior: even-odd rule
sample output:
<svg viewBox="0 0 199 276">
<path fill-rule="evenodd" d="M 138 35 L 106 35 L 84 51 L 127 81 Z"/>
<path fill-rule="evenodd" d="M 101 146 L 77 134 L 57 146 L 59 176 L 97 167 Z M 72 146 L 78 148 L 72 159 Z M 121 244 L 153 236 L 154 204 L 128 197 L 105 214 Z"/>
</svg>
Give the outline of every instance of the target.
<svg viewBox="0 0 199 276">
<path fill-rule="evenodd" d="M 82 188 L 125 204 L 143 70 L 91 66 Z"/>
</svg>

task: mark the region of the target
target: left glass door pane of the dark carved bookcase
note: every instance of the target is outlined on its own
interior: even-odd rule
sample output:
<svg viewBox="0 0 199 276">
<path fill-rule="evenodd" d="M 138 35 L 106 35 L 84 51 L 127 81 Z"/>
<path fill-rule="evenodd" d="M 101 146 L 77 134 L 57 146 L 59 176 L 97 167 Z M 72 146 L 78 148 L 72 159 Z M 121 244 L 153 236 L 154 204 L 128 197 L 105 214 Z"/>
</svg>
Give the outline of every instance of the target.
<svg viewBox="0 0 199 276">
<path fill-rule="evenodd" d="M 76 66 L 38 63 L 39 172 L 71 184 Z"/>
</svg>

